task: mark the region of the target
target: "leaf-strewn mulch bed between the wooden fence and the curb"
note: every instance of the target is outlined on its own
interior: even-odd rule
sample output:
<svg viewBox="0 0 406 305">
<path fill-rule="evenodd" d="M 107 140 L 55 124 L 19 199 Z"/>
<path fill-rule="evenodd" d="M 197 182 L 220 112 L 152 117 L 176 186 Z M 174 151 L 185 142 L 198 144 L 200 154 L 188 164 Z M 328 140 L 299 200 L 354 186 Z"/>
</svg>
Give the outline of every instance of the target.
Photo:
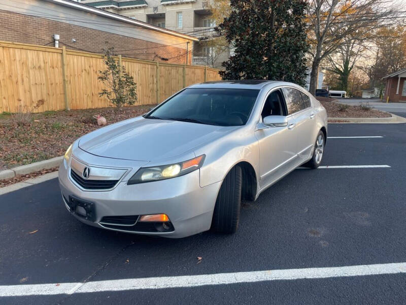
<svg viewBox="0 0 406 305">
<path fill-rule="evenodd" d="M 0 170 L 62 156 L 77 138 L 100 128 L 93 115 L 107 124 L 146 113 L 151 105 L 34 113 L 18 126 L 12 115 L 0 114 Z"/>
</svg>

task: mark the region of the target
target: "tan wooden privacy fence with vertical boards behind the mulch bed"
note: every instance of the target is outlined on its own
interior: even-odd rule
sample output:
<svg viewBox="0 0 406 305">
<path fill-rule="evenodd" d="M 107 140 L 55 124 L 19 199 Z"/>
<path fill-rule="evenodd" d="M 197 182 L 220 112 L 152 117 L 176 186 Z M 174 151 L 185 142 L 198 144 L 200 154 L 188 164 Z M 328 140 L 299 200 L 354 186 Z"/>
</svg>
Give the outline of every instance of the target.
<svg viewBox="0 0 406 305">
<path fill-rule="evenodd" d="M 220 80 L 218 70 L 117 56 L 137 83 L 136 105 L 157 104 L 194 83 Z M 34 112 L 111 106 L 98 93 L 104 55 L 64 47 L 0 42 L 0 113 L 42 101 Z"/>
</svg>

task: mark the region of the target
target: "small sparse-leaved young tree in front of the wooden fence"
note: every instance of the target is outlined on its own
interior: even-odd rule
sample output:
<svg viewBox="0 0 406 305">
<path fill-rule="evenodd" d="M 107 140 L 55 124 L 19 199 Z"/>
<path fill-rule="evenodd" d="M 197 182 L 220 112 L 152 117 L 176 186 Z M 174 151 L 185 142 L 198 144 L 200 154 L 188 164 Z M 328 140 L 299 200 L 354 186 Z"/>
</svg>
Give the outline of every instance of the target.
<svg viewBox="0 0 406 305">
<path fill-rule="evenodd" d="M 105 50 L 105 64 L 107 69 L 99 71 L 98 80 L 102 81 L 106 88 L 99 92 L 100 97 L 107 99 L 121 110 L 124 105 L 133 105 L 137 102 L 137 84 L 134 78 L 127 73 L 124 65 L 114 58 L 114 48 Z"/>
</svg>

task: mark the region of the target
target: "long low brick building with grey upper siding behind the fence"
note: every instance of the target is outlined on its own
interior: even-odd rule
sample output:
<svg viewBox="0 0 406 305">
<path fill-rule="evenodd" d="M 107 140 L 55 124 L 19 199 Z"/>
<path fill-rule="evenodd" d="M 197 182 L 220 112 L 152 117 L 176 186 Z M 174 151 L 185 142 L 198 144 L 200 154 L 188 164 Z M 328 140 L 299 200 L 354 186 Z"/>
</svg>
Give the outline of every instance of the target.
<svg viewBox="0 0 406 305">
<path fill-rule="evenodd" d="M 197 38 L 71 0 L 2 0 L 0 40 L 191 64 Z M 106 44 L 107 43 L 107 44 Z"/>
</svg>

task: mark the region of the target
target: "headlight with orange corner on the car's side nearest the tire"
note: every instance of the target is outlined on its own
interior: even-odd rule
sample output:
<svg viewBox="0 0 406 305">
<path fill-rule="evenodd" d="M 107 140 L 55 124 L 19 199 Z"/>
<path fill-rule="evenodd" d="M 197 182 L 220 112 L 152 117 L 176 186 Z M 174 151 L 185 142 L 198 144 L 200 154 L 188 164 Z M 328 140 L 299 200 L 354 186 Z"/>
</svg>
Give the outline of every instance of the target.
<svg viewBox="0 0 406 305">
<path fill-rule="evenodd" d="M 188 174 L 199 169 L 203 165 L 205 157 L 206 155 L 201 155 L 185 162 L 162 166 L 142 167 L 128 180 L 127 184 L 133 185 L 137 183 L 158 181 Z"/>
</svg>

